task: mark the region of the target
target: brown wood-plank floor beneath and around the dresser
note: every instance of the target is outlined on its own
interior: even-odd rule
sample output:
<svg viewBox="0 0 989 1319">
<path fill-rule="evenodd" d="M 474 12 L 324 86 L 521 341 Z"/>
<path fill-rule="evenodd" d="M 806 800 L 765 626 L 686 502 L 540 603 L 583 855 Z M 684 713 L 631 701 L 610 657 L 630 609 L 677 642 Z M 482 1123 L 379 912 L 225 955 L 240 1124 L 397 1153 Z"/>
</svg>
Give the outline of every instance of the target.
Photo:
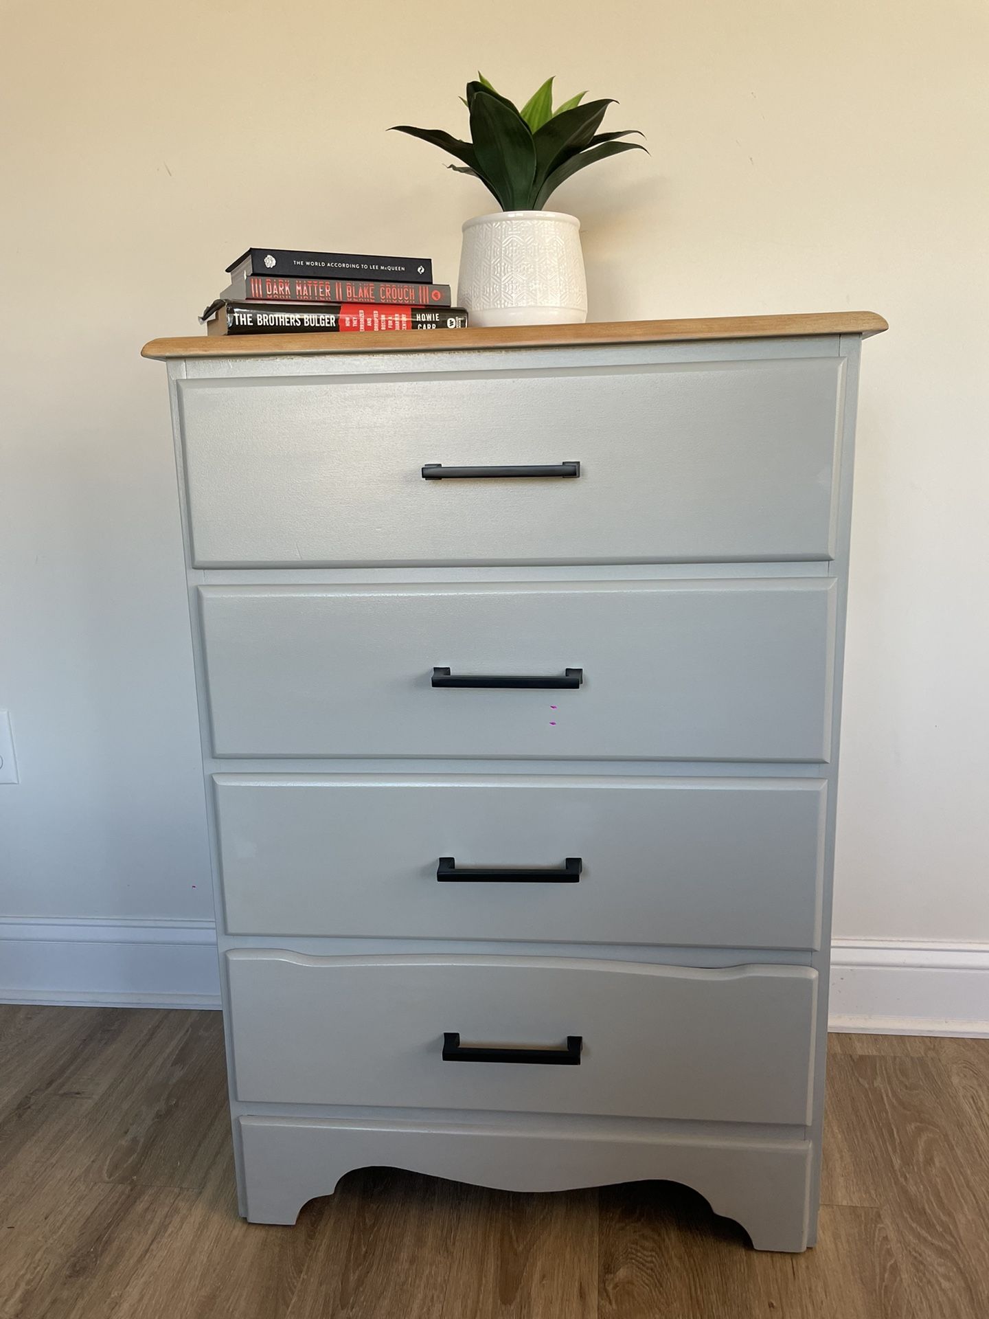
<svg viewBox="0 0 989 1319">
<path fill-rule="evenodd" d="M 349 1174 L 235 1208 L 211 1012 L 0 1006 L 1 1319 L 988 1319 L 989 1041 L 833 1035 L 820 1241 L 691 1191 Z"/>
</svg>

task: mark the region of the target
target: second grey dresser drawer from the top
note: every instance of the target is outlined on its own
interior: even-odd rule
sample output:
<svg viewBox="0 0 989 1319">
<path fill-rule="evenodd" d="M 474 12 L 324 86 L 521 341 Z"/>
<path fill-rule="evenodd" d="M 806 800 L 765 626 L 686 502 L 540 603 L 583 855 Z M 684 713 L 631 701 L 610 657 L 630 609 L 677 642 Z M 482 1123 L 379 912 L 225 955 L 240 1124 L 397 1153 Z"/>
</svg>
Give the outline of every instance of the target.
<svg viewBox="0 0 989 1319">
<path fill-rule="evenodd" d="M 822 761 L 835 582 L 202 587 L 216 756 Z M 575 690 L 448 689 L 541 677 Z"/>
</svg>

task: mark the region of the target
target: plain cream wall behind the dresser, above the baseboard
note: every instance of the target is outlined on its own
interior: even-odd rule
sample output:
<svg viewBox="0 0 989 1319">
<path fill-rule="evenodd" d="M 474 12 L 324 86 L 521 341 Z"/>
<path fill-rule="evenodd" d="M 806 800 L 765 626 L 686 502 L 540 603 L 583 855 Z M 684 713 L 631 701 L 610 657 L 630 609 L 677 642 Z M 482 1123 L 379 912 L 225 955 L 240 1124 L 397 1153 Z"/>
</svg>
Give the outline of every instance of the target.
<svg viewBox="0 0 989 1319">
<path fill-rule="evenodd" d="M 613 94 L 592 319 L 865 307 L 836 933 L 989 940 L 982 0 L 8 3 L 0 917 L 208 917 L 165 373 L 252 243 L 431 253 L 480 63 Z M 608 127 L 608 124 L 605 124 Z"/>
</svg>

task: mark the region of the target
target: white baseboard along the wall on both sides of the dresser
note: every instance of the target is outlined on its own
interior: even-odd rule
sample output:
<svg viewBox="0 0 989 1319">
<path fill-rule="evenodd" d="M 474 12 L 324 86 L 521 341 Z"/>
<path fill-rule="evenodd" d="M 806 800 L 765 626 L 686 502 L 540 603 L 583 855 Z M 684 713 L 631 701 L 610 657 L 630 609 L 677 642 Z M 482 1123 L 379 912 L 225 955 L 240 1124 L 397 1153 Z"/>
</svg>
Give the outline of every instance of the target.
<svg viewBox="0 0 989 1319">
<path fill-rule="evenodd" d="M 210 921 L 0 918 L 0 1002 L 219 1008 Z M 831 1030 L 989 1037 L 989 943 L 835 939 Z"/>
</svg>

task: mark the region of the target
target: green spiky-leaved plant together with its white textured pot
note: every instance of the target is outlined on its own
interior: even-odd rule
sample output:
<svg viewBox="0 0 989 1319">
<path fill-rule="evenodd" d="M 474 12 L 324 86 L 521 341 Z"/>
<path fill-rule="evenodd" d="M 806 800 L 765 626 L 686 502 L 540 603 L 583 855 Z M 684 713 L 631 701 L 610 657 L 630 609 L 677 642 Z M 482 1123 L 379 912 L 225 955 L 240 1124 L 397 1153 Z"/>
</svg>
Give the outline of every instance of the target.
<svg viewBox="0 0 989 1319">
<path fill-rule="evenodd" d="M 553 193 L 578 170 L 620 152 L 637 129 L 599 133 L 612 100 L 582 104 L 584 92 L 553 108 L 553 78 L 521 109 L 481 74 L 462 98 L 471 141 L 440 128 L 397 124 L 460 161 L 448 169 L 479 178 L 501 207 L 463 227 L 458 301 L 480 326 L 568 324 L 587 319 L 580 222 L 545 211 Z"/>
</svg>

